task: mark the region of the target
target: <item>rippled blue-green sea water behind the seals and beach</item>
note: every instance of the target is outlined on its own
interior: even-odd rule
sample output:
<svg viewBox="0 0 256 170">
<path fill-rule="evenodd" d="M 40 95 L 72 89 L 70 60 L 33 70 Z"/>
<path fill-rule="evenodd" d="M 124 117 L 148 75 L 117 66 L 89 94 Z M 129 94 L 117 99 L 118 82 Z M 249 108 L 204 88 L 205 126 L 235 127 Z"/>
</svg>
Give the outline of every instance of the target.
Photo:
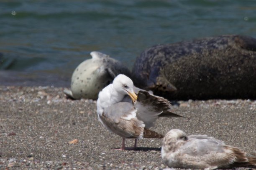
<svg viewBox="0 0 256 170">
<path fill-rule="evenodd" d="M 131 69 L 153 45 L 223 34 L 256 37 L 256 1 L 1 0 L 0 85 L 68 86 L 91 51 Z"/>
</svg>

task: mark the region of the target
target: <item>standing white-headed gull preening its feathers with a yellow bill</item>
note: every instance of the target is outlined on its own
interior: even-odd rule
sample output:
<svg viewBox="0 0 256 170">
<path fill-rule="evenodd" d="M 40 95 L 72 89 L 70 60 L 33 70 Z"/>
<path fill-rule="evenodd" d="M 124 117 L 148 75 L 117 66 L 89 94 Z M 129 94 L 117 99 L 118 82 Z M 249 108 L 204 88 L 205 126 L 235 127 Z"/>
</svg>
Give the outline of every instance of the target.
<svg viewBox="0 0 256 170">
<path fill-rule="evenodd" d="M 134 91 L 138 91 L 138 96 Z M 134 87 L 133 81 L 122 74 L 99 93 L 97 100 L 98 119 L 123 138 L 121 150 L 125 150 L 125 138 L 163 138 L 148 128 L 158 117 L 182 117 L 170 112 L 170 107 L 168 100 Z"/>
</svg>

